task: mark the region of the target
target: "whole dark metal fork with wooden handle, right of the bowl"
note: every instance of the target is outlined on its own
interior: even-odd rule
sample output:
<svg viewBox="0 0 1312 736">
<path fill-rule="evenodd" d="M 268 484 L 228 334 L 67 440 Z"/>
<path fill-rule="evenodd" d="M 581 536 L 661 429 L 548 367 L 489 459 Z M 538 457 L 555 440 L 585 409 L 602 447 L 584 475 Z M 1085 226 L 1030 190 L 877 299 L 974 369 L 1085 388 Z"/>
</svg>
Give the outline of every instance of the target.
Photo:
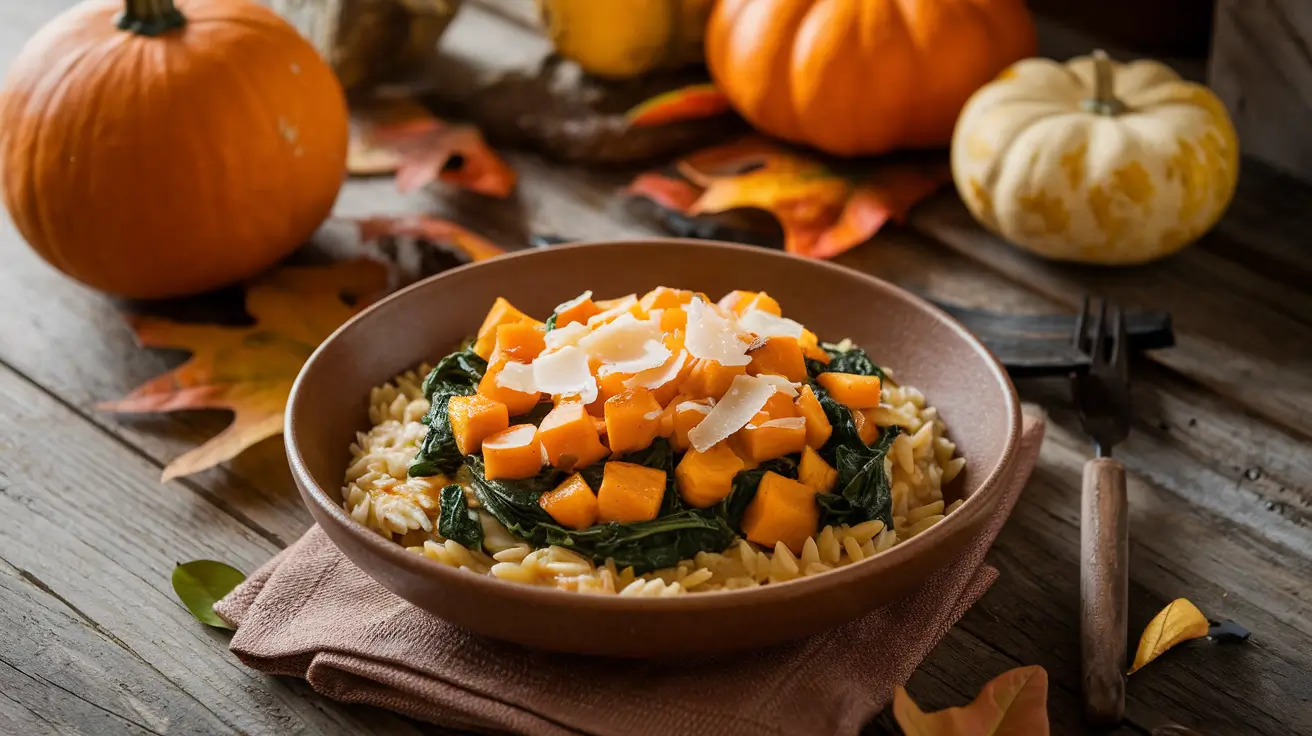
<svg viewBox="0 0 1312 736">
<path fill-rule="evenodd" d="M 1090 324 L 1092 321 L 1092 324 Z M 1089 296 L 1075 325 L 1075 346 L 1089 371 L 1072 375 L 1072 392 L 1096 457 L 1084 466 L 1080 520 L 1080 649 L 1085 716 L 1097 726 L 1126 708 L 1126 598 L 1130 539 L 1126 468 L 1111 449 L 1130 434 L 1130 349 L 1117 304 Z"/>
</svg>

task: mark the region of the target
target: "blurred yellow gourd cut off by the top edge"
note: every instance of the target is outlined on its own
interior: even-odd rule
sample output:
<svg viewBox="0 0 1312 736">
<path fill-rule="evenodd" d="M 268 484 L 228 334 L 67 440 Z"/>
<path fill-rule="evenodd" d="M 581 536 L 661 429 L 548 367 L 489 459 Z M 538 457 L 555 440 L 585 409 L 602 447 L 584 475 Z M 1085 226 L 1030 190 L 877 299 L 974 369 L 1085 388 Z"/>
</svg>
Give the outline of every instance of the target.
<svg viewBox="0 0 1312 736">
<path fill-rule="evenodd" d="M 627 79 L 702 60 L 714 0 L 538 0 L 556 52 L 584 71 Z"/>
</svg>

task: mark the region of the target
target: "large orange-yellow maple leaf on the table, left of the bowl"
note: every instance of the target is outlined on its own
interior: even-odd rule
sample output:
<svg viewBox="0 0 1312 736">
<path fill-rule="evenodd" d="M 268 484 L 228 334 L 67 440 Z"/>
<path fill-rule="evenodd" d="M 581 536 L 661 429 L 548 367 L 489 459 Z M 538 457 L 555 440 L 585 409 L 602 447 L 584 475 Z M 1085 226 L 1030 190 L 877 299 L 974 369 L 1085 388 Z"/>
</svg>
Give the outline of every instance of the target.
<svg viewBox="0 0 1312 736">
<path fill-rule="evenodd" d="M 387 269 L 369 258 L 321 268 L 285 266 L 247 286 L 245 306 L 253 325 L 131 317 L 142 346 L 181 348 L 190 350 L 192 357 L 127 396 L 97 408 L 119 413 L 228 409 L 232 424 L 171 462 L 161 480 L 232 459 L 282 432 L 291 383 L 306 358 L 367 299 L 378 295 L 386 282 Z"/>
</svg>

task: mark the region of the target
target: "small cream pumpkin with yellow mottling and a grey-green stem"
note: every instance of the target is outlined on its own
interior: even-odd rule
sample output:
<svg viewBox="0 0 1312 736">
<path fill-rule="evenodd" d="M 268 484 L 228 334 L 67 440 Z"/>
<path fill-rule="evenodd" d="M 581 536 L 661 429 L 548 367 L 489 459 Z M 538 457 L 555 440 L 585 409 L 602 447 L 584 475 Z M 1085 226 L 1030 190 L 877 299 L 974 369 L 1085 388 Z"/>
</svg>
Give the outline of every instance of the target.
<svg viewBox="0 0 1312 736">
<path fill-rule="evenodd" d="M 1235 126 L 1211 91 L 1101 51 L 1013 64 L 953 135 L 953 178 L 975 218 L 1061 261 L 1170 255 L 1216 224 L 1237 174 Z"/>
</svg>

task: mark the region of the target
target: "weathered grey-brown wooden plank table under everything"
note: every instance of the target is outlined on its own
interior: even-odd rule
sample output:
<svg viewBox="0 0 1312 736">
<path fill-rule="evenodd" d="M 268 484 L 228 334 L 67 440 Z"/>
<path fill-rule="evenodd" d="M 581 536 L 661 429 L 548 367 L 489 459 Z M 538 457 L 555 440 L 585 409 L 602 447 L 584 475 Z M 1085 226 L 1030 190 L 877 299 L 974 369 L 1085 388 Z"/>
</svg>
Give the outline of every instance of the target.
<svg viewBox="0 0 1312 736">
<path fill-rule="evenodd" d="M 4 63 L 70 4 L 0 4 Z M 467 3 L 450 51 L 495 49 L 514 56 L 508 63 L 541 55 L 543 41 L 513 17 L 530 4 L 499 5 L 502 14 Z M 400 197 L 384 180 L 350 181 L 337 214 L 430 211 L 508 247 L 531 232 L 657 234 L 614 195 L 628 172 L 508 157 L 521 174 L 508 201 Z M 1253 638 L 1185 645 L 1135 674 L 1120 733 L 1164 723 L 1312 733 L 1309 213 L 1312 189 L 1246 165 L 1237 201 L 1203 243 L 1152 266 L 1096 270 L 1012 249 L 943 192 L 908 227 L 840 258 L 968 306 L 1069 311 L 1096 290 L 1173 314 L 1178 346 L 1134 365 L 1136 419 L 1118 447 L 1130 472 L 1131 639 L 1176 597 L 1241 622 Z M 430 732 L 244 668 L 227 651 L 228 634 L 198 624 L 174 598 L 174 562 L 213 558 L 251 571 L 311 522 L 279 440 L 160 484 L 167 460 L 227 419 L 93 409 L 181 359 L 135 348 L 122 308 L 47 268 L 0 224 L 0 732 Z M 1090 446 L 1061 382 L 1019 388 L 1051 420 L 1038 470 L 989 558 L 1001 579 L 909 689 L 928 707 L 960 705 L 993 676 L 1039 664 L 1051 677 L 1054 732 L 1078 733 L 1080 472 Z"/>
</svg>

